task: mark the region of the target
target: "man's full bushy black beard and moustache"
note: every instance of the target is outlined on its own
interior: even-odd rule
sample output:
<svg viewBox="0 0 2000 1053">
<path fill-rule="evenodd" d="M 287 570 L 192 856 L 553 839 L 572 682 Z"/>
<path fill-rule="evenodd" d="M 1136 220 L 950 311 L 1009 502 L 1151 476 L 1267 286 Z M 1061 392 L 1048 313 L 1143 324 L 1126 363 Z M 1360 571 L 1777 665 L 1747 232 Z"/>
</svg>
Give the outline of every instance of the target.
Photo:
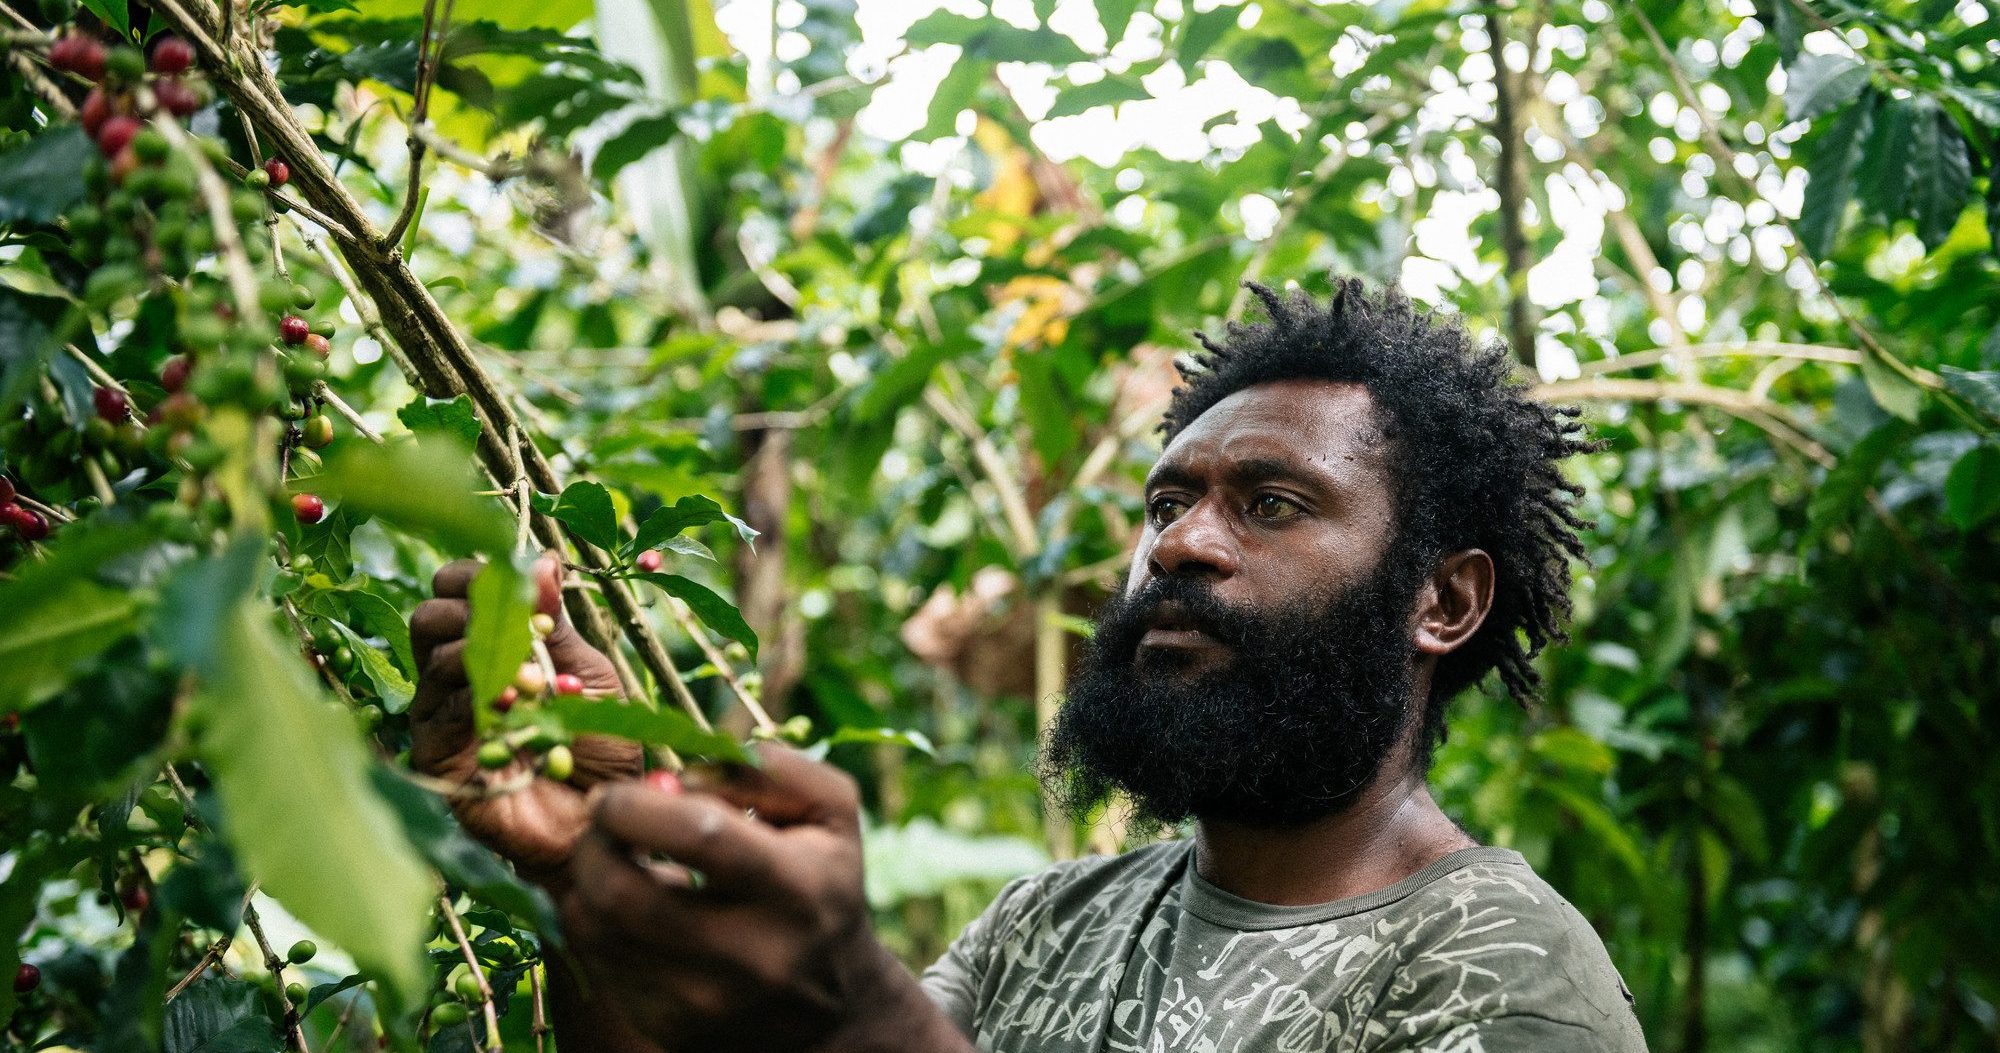
<svg viewBox="0 0 2000 1053">
<path fill-rule="evenodd" d="M 1294 827 L 1374 781 L 1414 717 L 1416 575 L 1390 553 L 1330 603 L 1234 609 L 1196 579 L 1112 597 L 1048 729 L 1040 775 L 1082 819 L 1112 789 L 1142 825 L 1190 817 Z M 1138 649 L 1164 601 L 1228 649 Z"/>
</svg>

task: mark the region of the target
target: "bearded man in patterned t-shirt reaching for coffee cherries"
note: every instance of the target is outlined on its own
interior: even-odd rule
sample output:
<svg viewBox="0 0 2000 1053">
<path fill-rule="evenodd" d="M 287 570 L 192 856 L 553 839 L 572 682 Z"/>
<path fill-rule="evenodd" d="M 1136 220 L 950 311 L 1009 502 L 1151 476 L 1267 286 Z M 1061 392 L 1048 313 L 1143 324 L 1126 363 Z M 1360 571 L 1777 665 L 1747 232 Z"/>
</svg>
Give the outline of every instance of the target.
<svg viewBox="0 0 2000 1053">
<path fill-rule="evenodd" d="M 1424 785 L 1454 695 L 1498 673 L 1534 697 L 1582 557 L 1558 464 L 1590 442 L 1400 292 L 1256 292 L 1270 318 L 1204 336 L 1166 412 L 1126 589 L 1044 745 L 1072 809 L 1116 789 L 1194 837 L 1008 885 L 916 979 L 868 931 L 844 775 L 768 751 L 674 795 L 580 745 L 594 801 L 462 807 L 560 899 L 590 989 L 562 979 L 564 1053 L 1644 1049 L 1584 919 Z M 462 601 L 414 629 L 416 763 L 468 777 Z"/>
</svg>

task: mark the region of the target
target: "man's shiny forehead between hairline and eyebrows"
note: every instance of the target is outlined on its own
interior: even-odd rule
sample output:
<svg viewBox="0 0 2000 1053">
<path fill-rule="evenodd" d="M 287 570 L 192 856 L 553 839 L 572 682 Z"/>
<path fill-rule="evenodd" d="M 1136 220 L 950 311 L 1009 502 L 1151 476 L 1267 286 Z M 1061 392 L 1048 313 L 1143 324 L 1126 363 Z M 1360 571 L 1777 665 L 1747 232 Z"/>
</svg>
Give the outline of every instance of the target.
<svg viewBox="0 0 2000 1053">
<path fill-rule="evenodd" d="M 1196 416 L 1162 450 L 1160 464 L 1202 456 L 1376 462 L 1380 440 L 1374 396 L 1366 386 L 1348 380 L 1274 380 L 1232 392 Z"/>
</svg>

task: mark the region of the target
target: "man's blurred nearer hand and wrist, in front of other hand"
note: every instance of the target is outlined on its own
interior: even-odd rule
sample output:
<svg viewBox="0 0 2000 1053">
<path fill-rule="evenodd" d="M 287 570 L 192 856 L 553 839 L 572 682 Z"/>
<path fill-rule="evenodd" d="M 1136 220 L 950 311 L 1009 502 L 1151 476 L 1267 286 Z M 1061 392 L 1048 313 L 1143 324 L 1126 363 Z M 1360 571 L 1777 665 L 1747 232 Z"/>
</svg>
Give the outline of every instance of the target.
<svg viewBox="0 0 2000 1053">
<path fill-rule="evenodd" d="M 864 1033 L 926 1021 L 956 1045 L 868 927 L 854 781 L 762 759 L 686 793 L 598 791 L 560 903 L 594 995 L 666 1049 L 874 1047 Z"/>
</svg>

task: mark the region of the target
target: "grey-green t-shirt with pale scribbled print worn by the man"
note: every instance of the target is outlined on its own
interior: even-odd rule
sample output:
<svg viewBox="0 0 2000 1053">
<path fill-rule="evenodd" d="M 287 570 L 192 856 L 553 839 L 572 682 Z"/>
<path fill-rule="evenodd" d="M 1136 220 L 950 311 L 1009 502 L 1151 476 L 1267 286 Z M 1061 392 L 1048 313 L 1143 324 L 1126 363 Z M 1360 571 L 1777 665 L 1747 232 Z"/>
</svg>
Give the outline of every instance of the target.
<svg viewBox="0 0 2000 1053">
<path fill-rule="evenodd" d="M 1646 1049 L 1598 935 L 1508 849 L 1312 907 L 1224 893 L 1190 841 L 1058 863 L 924 989 L 988 1053 Z"/>
</svg>

